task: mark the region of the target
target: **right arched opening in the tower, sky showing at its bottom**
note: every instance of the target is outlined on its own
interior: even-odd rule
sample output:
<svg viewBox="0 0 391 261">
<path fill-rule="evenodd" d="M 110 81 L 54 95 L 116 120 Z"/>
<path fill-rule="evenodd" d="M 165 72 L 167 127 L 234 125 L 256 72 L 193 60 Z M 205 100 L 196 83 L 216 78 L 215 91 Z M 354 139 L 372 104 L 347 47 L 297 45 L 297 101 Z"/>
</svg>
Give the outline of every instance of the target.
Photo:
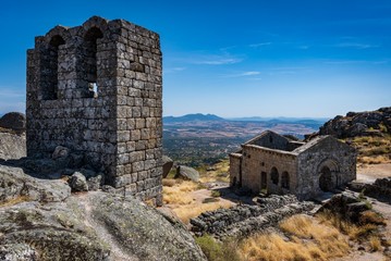
<svg viewBox="0 0 391 261">
<path fill-rule="evenodd" d="M 91 27 L 84 36 L 84 72 L 87 82 L 86 97 L 98 97 L 98 66 L 97 66 L 97 40 L 103 34 L 97 27 Z"/>
</svg>

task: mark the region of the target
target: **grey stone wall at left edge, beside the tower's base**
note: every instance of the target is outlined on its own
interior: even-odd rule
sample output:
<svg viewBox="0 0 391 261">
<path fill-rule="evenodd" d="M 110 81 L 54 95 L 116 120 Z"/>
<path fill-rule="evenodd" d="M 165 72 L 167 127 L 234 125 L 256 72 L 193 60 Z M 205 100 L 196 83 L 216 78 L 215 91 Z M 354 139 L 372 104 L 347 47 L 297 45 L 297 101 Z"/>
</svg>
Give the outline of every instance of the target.
<svg viewBox="0 0 391 261">
<path fill-rule="evenodd" d="M 26 136 L 0 132 L 0 159 L 11 160 L 26 157 Z"/>
</svg>

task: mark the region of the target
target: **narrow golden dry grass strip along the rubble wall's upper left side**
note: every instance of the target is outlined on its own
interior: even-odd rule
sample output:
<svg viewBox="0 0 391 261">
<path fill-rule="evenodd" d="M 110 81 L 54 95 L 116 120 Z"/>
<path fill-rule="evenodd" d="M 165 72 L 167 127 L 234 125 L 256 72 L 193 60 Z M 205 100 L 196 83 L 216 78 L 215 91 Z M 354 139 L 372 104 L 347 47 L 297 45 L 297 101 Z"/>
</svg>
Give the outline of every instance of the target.
<svg viewBox="0 0 391 261">
<path fill-rule="evenodd" d="M 185 224 L 188 224 L 188 221 L 193 217 L 198 216 L 200 213 L 206 211 L 212 211 L 217 209 L 229 209 L 233 203 L 229 201 L 217 201 L 210 203 L 192 203 L 186 206 L 179 206 L 172 210 L 175 212 L 178 217 Z"/>
</svg>

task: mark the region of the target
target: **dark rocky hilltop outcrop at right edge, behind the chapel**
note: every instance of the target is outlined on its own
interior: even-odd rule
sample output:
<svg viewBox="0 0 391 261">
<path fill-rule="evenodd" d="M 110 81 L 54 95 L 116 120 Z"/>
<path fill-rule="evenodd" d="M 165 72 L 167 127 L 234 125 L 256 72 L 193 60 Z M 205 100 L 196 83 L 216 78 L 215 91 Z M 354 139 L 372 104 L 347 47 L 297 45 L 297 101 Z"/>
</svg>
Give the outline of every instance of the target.
<svg viewBox="0 0 391 261">
<path fill-rule="evenodd" d="M 349 112 L 345 116 L 335 116 L 320 127 L 320 135 L 337 138 L 356 136 L 381 136 L 391 134 L 391 107 L 369 112 Z"/>
</svg>

